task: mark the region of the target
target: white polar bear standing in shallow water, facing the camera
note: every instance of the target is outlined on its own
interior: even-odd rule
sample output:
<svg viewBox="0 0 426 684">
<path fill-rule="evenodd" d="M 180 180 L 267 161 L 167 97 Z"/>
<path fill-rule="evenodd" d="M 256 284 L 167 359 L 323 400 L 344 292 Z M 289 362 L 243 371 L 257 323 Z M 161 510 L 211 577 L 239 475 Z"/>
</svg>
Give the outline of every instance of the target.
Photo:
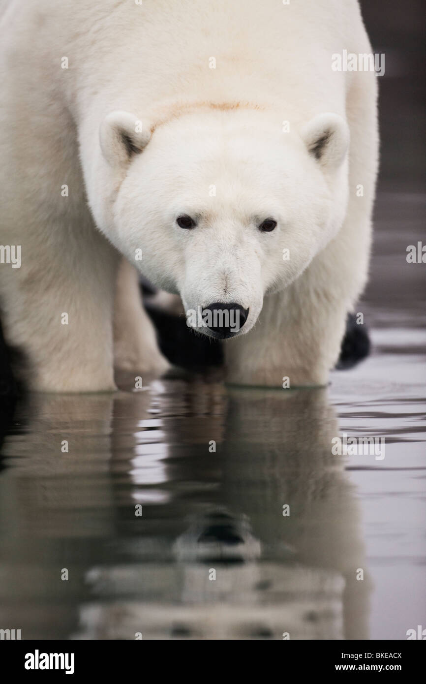
<svg viewBox="0 0 426 684">
<path fill-rule="evenodd" d="M 212 315 L 230 382 L 325 384 L 371 244 L 375 73 L 332 67 L 371 52 L 357 1 L 2 8 L 0 303 L 32 388 L 167 367 L 137 272 Z"/>
</svg>

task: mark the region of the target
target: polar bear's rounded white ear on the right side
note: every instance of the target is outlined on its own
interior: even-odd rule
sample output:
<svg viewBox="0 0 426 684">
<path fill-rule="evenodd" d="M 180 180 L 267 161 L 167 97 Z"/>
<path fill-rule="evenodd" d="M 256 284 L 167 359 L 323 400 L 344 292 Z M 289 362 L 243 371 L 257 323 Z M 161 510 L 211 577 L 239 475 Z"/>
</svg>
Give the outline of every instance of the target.
<svg viewBox="0 0 426 684">
<path fill-rule="evenodd" d="M 338 168 L 349 147 L 349 127 L 338 114 L 319 114 L 306 124 L 302 138 L 312 157 L 324 168 Z"/>
</svg>

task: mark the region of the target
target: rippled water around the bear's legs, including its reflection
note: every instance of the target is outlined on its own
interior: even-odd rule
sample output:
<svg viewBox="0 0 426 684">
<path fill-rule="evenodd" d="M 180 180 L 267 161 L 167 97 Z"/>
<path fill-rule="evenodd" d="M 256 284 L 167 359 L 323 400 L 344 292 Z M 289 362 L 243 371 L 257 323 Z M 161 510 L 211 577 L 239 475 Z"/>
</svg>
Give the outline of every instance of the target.
<svg viewBox="0 0 426 684">
<path fill-rule="evenodd" d="M 424 200 L 381 188 L 358 307 L 373 351 L 327 389 L 175 373 L 18 406 L 0 472 L 0 627 L 333 640 L 426 627 L 426 264 L 405 259 L 426 242 Z M 384 437 L 384 458 L 334 455 L 343 433 Z"/>
</svg>

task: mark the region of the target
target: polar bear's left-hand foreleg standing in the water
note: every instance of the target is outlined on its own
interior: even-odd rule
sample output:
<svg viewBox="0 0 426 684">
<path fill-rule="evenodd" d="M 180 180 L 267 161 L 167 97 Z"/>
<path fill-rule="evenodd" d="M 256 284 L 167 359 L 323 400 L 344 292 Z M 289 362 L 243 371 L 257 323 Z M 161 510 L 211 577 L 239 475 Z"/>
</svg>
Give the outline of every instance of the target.
<svg viewBox="0 0 426 684">
<path fill-rule="evenodd" d="M 23 378 L 44 392 L 114 391 L 117 254 L 92 226 L 31 226 L 21 268 L 3 273 L 2 321 L 27 357 Z"/>
</svg>

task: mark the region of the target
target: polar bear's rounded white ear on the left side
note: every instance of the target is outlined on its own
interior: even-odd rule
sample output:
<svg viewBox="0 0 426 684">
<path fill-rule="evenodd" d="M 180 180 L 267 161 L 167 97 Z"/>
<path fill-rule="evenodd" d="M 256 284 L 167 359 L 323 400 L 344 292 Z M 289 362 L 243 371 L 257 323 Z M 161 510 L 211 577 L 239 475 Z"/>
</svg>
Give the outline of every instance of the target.
<svg viewBox="0 0 426 684">
<path fill-rule="evenodd" d="M 142 152 L 151 137 L 149 126 L 128 111 L 111 111 L 99 129 L 99 142 L 111 166 L 126 166 Z"/>
</svg>

